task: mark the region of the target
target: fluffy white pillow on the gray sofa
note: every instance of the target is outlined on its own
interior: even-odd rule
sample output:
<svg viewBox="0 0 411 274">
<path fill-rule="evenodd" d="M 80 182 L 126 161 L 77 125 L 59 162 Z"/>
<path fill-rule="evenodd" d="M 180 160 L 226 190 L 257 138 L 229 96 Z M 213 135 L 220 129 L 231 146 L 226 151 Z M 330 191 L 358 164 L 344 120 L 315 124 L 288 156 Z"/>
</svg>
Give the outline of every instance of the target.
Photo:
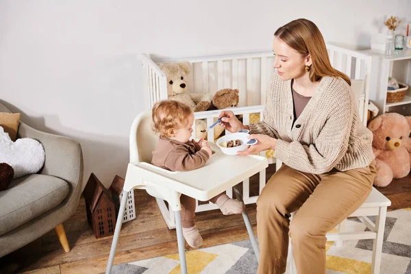
<svg viewBox="0 0 411 274">
<path fill-rule="evenodd" d="M 0 127 L 0 162 L 14 169 L 14 177 L 37 173 L 45 164 L 45 149 L 37 140 L 21 138 L 13 142 Z"/>
</svg>

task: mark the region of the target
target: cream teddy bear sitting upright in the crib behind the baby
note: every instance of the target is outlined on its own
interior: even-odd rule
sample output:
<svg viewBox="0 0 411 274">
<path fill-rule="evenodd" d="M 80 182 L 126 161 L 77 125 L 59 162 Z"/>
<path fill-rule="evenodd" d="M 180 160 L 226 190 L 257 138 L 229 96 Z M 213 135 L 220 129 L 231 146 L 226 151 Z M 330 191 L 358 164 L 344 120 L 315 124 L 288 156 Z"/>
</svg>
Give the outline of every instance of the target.
<svg viewBox="0 0 411 274">
<path fill-rule="evenodd" d="M 187 80 L 190 68 L 189 62 L 167 63 L 160 66 L 167 78 L 168 98 L 186 103 L 193 112 L 206 111 L 210 108 L 212 95 L 210 93 L 192 93 L 188 90 Z M 206 128 L 206 121 L 196 120 L 196 138 L 206 138 Z"/>
</svg>

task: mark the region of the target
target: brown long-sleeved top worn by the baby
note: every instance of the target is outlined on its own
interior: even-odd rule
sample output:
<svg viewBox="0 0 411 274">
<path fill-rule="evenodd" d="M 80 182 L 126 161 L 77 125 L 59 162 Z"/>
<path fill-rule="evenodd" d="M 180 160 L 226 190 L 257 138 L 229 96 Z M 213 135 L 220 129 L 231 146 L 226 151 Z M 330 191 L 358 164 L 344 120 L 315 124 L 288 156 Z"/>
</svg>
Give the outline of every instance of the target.
<svg viewBox="0 0 411 274">
<path fill-rule="evenodd" d="M 208 158 L 208 152 L 195 151 L 195 145 L 191 141 L 179 142 L 160 136 L 151 164 L 169 171 L 192 171 L 206 164 Z"/>
</svg>

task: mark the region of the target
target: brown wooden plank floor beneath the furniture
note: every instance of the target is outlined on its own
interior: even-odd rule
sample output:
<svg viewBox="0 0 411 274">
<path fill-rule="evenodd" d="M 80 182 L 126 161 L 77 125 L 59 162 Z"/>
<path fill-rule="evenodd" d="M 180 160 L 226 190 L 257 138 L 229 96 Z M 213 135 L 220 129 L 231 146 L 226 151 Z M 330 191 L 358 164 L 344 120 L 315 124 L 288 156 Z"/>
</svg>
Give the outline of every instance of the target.
<svg viewBox="0 0 411 274">
<path fill-rule="evenodd" d="M 266 177 L 275 168 L 267 169 Z M 258 175 L 250 180 L 251 195 L 258 193 Z M 396 179 L 386 188 L 379 188 L 392 206 L 388 210 L 411 208 L 411 175 Z M 136 219 L 123 224 L 114 264 L 132 262 L 177 253 L 175 230 L 169 230 L 162 219 L 155 199 L 145 190 L 135 190 Z M 256 205 L 247 212 L 256 233 Z M 219 210 L 200 212 L 197 227 L 204 239 L 203 247 L 222 245 L 248 238 L 241 215 L 223 216 Z M 84 199 L 75 215 L 64 222 L 71 251 L 64 253 L 55 232 L 49 232 L 31 244 L 0 258 L 0 273 L 104 273 L 112 236 L 97 240 L 87 223 Z M 188 247 L 188 246 L 187 246 Z"/>
</svg>

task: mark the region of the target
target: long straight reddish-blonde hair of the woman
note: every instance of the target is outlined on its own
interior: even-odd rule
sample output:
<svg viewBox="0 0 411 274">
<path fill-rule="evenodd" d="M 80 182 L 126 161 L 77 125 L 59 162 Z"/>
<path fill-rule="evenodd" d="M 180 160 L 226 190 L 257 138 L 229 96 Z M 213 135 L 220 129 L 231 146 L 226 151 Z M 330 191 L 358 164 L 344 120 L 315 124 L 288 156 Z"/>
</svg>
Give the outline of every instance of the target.
<svg viewBox="0 0 411 274">
<path fill-rule="evenodd" d="M 337 71 L 329 62 L 327 47 L 319 28 L 311 21 L 300 18 L 279 27 L 274 34 L 304 57 L 311 56 L 310 81 L 318 82 L 325 76 L 340 77 L 350 86 L 347 75 Z"/>
</svg>

